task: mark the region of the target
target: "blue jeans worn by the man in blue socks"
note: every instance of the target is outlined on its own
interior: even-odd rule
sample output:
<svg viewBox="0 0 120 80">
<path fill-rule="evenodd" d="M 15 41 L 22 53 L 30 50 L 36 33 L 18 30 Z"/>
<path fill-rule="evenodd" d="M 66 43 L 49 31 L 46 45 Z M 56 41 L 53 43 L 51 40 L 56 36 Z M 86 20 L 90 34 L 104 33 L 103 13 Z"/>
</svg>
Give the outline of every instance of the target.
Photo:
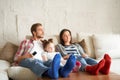
<svg viewBox="0 0 120 80">
<path fill-rule="evenodd" d="M 50 68 L 51 64 L 52 64 L 52 60 L 43 62 L 41 60 L 33 59 L 33 58 L 23 59 L 19 63 L 20 66 L 29 68 L 38 77 L 41 77 L 42 74 Z"/>
</svg>

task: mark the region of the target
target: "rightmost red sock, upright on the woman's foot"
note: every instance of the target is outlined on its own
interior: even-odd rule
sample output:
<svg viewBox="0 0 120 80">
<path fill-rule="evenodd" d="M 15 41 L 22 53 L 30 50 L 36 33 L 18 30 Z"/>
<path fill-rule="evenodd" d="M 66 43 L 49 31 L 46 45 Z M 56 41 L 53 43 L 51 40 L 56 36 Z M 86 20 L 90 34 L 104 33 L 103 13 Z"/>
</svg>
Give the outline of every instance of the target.
<svg viewBox="0 0 120 80">
<path fill-rule="evenodd" d="M 100 69 L 100 72 L 103 74 L 108 74 L 110 71 L 111 57 L 108 54 L 104 55 L 105 65 Z"/>
</svg>

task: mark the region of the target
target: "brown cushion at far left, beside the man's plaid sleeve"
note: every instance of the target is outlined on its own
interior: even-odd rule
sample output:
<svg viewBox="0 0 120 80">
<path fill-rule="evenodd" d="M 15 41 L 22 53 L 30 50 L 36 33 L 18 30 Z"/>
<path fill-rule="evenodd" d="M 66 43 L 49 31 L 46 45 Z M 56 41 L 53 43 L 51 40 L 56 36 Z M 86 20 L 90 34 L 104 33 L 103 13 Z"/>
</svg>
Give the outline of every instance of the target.
<svg viewBox="0 0 120 80">
<path fill-rule="evenodd" d="M 2 52 L 0 53 L 0 59 L 7 60 L 10 63 L 13 62 L 14 55 L 17 51 L 18 46 L 7 42 L 4 46 Z"/>
</svg>

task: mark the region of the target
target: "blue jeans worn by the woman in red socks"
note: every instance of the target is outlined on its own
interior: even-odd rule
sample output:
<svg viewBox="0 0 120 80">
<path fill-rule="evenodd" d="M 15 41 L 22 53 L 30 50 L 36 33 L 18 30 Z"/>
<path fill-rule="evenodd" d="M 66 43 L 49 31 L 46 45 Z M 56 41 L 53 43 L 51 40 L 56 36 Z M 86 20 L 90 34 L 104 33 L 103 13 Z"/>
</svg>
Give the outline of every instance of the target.
<svg viewBox="0 0 120 80">
<path fill-rule="evenodd" d="M 80 61 L 81 63 L 81 71 L 85 71 L 85 67 L 87 65 L 95 65 L 97 64 L 97 61 L 95 61 L 94 59 L 90 58 L 90 57 L 86 57 L 83 58 L 82 56 L 76 56 L 77 61 Z"/>
</svg>

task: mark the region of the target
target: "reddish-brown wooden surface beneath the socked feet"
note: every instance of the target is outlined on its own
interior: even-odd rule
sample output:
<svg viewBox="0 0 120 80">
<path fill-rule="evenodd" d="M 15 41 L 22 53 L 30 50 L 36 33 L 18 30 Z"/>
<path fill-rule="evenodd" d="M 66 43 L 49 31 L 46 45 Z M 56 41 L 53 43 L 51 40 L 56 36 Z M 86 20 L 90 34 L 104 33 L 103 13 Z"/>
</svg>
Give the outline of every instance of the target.
<svg viewBox="0 0 120 80">
<path fill-rule="evenodd" d="M 53 79 L 42 78 L 41 80 L 53 80 Z M 108 75 L 103 75 L 103 74 L 90 75 L 86 72 L 79 72 L 79 73 L 70 73 L 69 77 L 59 78 L 56 80 L 120 80 L 120 75 L 112 72 L 109 73 Z"/>
</svg>

